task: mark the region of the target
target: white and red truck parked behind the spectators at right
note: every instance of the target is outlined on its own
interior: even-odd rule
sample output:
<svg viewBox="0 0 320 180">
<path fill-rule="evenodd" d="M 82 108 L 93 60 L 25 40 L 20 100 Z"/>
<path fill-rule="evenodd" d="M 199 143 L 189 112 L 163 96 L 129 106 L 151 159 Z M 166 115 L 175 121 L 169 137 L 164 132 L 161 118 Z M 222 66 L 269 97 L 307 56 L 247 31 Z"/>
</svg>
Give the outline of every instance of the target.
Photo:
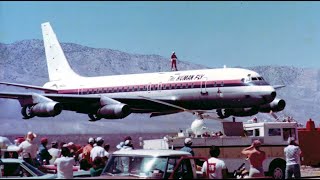
<svg viewBox="0 0 320 180">
<path fill-rule="evenodd" d="M 195 156 L 208 157 L 212 145 L 220 147 L 219 158 L 224 160 L 228 174 L 232 176 L 239 167 L 249 169 L 250 163 L 241 154 L 242 149 L 260 140 L 261 150 L 266 152 L 263 162 L 265 174 L 275 179 L 283 179 L 286 167 L 284 148 L 288 145 L 288 138 L 298 139 L 297 122 L 222 122 L 223 132 L 220 135 L 179 132 L 176 136 L 166 136 L 163 139 L 143 140 L 143 149 L 174 149 L 184 146 L 186 137 L 192 139 L 192 149 Z"/>
</svg>

